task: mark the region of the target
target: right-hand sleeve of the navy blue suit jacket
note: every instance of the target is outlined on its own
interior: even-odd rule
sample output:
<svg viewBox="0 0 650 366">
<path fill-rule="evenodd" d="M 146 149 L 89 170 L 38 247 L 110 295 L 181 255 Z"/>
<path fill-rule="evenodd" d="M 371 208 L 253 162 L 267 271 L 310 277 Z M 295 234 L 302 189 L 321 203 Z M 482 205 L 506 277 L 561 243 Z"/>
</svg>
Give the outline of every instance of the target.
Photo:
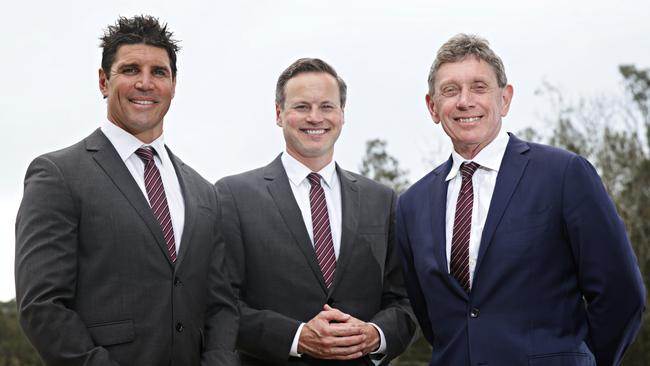
<svg viewBox="0 0 650 366">
<path fill-rule="evenodd" d="M 623 221 L 579 156 L 565 173 L 563 214 L 587 305 L 589 347 L 598 365 L 618 365 L 641 326 L 645 288 Z"/>
</svg>

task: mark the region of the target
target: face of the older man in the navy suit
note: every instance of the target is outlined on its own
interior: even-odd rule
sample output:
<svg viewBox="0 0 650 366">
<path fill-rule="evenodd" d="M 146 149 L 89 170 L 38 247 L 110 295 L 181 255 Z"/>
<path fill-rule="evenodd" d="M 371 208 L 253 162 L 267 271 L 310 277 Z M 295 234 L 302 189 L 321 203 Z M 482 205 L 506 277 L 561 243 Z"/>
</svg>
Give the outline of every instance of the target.
<svg viewBox="0 0 650 366">
<path fill-rule="evenodd" d="M 499 133 L 512 99 L 512 86 L 500 88 L 490 64 L 476 57 L 443 64 L 427 107 L 449 135 L 454 149 L 472 159 Z"/>
</svg>

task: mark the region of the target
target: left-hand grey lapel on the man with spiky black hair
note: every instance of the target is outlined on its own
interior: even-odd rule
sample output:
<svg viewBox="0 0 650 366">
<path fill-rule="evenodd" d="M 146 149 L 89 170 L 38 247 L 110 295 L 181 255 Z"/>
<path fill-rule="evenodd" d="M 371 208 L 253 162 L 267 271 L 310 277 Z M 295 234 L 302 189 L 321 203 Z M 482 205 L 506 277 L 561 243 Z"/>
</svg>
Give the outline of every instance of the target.
<svg viewBox="0 0 650 366">
<path fill-rule="evenodd" d="M 86 150 L 94 152 L 92 154 L 93 159 L 106 172 L 109 179 L 113 181 L 113 184 L 122 192 L 129 203 L 131 203 L 133 209 L 142 218 L 154 238 L 156 238 L 158 247 L 162 250 L 171 265 L 172 262 L 169 258 L 160 224 L 153 215 L 147 199 L 142 194 L 140 187 L 138 187 L 138 184 L 133 179 L 133 176 L 131 176 L 126 165 L 124 165 L 124 162 L 120 159 L 113 145 L 99 129 L 95 130 L 86 139 Z"/>
</svg>

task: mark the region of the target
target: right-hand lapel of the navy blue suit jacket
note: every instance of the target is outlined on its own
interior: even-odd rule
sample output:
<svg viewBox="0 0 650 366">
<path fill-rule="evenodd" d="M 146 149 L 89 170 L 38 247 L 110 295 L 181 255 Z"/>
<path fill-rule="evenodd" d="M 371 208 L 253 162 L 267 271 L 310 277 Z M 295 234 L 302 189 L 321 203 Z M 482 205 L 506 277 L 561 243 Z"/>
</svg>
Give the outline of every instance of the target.
<svg viewBox="0 0 650 366">
<path fill-rule="evenodd" d="M 494 186 L 494 193 L 492 194 L 492 201 L 490 202 L 490 209 L 488 210 L 483 233 L 481 234 L 481 244 L 476 260 L 476 268 L 474 269 L 475 279 L 478 277 L 485 252 L 492 242 L 494 231 L 499 225 L 503 213 L 510 204 L 510 199 L 528 165 L 528 157 L 523 155 L 528 150 L 529 147 L 526 142 L 519 140 L 514 135 L 510 135 L 510 141 L 503 155 L 503 161 L 501 162 L 496 185 Z"/>
</svg>

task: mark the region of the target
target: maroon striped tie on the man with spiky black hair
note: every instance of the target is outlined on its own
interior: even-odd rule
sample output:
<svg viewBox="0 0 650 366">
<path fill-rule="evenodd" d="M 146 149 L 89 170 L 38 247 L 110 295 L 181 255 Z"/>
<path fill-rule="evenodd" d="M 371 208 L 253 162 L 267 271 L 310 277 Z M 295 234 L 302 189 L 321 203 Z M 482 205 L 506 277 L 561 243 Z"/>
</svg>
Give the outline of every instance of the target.
<svg viewBox="0 0 650 366">
<path fill-rule="evenodd" d="M 135 151 L 135 154 L 144 162 L 144 186 L 147 189 L 147 196 L 149 196 L 149 205 L 162 228 L 167 250 L 169 250 L 169 257 L 172 262 L 176 262 L 176 244 L 172 217 L 169 214 L 167 196 L 165 195 L 165 187 L 162 184 L 160 171 L 158 171 L 158 167 L 156 167 L 153 160 L 155 153 L 156 151 L 151 146 L 141 147 Z"/>
</svg>

